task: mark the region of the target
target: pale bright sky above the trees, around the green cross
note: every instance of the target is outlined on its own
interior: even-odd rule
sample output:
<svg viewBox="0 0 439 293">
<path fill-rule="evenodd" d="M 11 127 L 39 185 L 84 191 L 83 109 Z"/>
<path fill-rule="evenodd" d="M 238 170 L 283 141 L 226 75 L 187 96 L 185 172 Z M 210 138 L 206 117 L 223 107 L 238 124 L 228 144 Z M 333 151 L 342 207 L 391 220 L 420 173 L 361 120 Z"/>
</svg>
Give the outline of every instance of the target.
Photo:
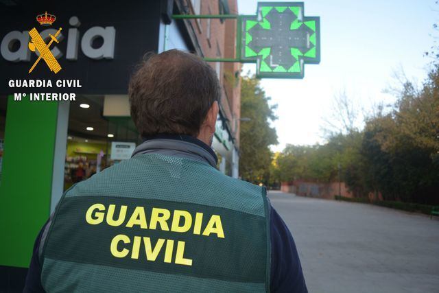
<svg viewBox="0 0 439 293">
<path fill-rule="evenodd" d="M 306 65 L 303 80 L 261 81 L 278 104 L 274 126 L 279 145 L 273 150 L 287 143 L 324 143 L 322 119 L 329 117 L 333 95 L 342 89 L 367 110 L 377 102 L 394 102 L 383 93 L 394 84 L 392 72 L 402 68 L 408 78 L 422 82 L 431 62 L 424 52 L 438 36 L 432 28 L 439 19 L 434 2 L 305 1 L 305 16 L 320 16 L 321 62 Z M 238 0 L 239 14 L 255 14 L 256 8 L 257 1 Z M 244 72 L 255 72 L 255 66 L 244 65 Z"/>
</svg>

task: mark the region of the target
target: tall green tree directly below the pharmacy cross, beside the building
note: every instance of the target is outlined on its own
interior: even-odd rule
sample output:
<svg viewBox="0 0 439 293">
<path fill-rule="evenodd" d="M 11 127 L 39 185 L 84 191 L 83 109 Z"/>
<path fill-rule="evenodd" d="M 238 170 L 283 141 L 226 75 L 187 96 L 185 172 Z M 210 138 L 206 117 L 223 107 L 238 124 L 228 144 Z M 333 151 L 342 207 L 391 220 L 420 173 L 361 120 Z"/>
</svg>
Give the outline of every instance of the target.
<svg viewBox="0 0 439 293">
<path fill-rule="evenodd" d="M 270 145 L 277 142 L 276 130 L 270 121 L 277 119 L 276 105 L 270 106 L 270 97 L 259 80 L 244 76 L 241 80 L 241 117 L 250 121 L 241 123 L 239 171 L 241 177 L 253 183 L 268 184 L 272 152 Z"/>
</svg>

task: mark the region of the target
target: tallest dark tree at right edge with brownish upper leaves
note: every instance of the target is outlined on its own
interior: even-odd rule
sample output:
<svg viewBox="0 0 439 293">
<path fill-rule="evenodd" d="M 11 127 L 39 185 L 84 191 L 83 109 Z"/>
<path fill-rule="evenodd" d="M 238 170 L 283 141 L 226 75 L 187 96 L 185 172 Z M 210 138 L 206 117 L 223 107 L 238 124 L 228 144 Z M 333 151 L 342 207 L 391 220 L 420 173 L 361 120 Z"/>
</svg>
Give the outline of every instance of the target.
<svg viewBox="0 0 439 293">
<path fill-rule="evenodd" d="M 366 124 L 364 154 L 375 174 L 369 187 L 387 200 L 438 204 L 439 67 L 420 91 L 404 82 L 394 111 Z"/>
</svg>

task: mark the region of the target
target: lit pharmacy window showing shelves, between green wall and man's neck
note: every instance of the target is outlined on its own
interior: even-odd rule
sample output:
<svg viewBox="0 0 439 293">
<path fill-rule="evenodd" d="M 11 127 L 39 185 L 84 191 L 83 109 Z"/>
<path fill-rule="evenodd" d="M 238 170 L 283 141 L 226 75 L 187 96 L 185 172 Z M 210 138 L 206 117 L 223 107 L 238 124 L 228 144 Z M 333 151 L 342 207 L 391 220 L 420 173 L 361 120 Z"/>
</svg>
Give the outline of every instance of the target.
<svg viewBox="0 0 439 293">
<path fill-rule="evenodd" d="M 106 167 L 129 159 L 132 150 L 141 143 L 131 117 L 104 115 L 104 112 L 117 112 L 111 111 L 117 109 L 104 111 L 105 99 L 104 96 L 83 95 L 71 103 L 64 190 Z"/>
</svg>

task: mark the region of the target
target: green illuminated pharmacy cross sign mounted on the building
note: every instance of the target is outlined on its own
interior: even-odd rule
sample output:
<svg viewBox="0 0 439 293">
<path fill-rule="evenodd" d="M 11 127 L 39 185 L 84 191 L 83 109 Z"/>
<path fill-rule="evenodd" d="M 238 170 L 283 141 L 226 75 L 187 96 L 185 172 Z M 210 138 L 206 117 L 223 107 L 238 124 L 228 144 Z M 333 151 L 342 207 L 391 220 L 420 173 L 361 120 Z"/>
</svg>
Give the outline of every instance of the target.
<svg viewBox="0 0 439 293">
<path fill-rule="evenodd" d="M 241 17 L 241 60 L 257 63 L 259 78 L 303 78 L 320 62 L 320 18 L 304 16 L 302 2 L 260 2 Z"/>
</svg>

